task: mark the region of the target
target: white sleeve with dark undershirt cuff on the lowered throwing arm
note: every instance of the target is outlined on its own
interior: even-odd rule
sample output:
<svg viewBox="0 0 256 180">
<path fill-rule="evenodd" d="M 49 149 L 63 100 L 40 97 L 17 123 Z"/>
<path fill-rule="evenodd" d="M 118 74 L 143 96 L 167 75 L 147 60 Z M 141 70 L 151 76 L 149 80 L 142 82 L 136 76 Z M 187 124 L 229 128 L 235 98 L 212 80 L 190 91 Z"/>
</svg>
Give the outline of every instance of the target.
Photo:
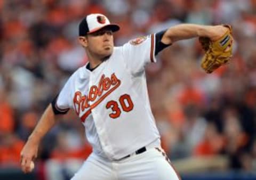
<svg viewBox="0 0 256 180">
<path fill-rule="evenodd" d="M 55 96 L 52 101 L 52 109 L 54 114 L 66 114 L 72 107 L 71 104 L 71 77 L 61 89 L 60 93 Z"/>
</svg>

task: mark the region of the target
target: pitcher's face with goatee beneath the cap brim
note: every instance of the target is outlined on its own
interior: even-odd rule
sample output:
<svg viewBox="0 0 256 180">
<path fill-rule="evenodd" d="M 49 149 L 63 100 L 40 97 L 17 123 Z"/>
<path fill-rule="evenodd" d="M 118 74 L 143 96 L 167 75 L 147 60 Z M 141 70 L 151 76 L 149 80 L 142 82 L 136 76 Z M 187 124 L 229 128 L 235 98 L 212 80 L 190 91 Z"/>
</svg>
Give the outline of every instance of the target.
<svg viewBox="0 0 256 180">
<path fill-rule="evenodd" d="M 90 53 L 105 58 L 113 52 L 114 40 L 113 32 L 110 29 L 101 29 L 88 34 L 86 37 L 85 47 Z"/>
</svg>

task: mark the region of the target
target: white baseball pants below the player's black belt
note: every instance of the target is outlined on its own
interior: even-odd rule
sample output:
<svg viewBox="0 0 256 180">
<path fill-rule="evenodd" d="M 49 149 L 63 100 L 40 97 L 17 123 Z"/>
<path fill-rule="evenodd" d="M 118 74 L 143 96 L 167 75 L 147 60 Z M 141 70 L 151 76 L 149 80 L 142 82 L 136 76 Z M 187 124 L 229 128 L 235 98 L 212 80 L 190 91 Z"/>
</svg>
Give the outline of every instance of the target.
<svg viewBox="0 0 256 180">
<path fill-rule="evenodd" d="M 71 180 L 179 180 L 161 148 L 150 148 L 118 161 L 92 153 Z"/>
</svg>

